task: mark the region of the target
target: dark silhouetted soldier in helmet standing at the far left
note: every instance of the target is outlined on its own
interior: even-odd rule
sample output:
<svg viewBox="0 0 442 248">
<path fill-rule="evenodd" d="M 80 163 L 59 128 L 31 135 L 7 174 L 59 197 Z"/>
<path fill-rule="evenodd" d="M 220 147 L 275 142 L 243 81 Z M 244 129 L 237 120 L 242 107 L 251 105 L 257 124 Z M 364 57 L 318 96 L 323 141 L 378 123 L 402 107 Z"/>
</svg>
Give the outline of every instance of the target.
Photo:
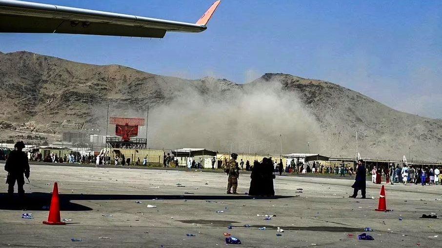
<svg viewBox="0 0 442 248">
<path fill-rule="evenodd" d="M 4 170 L 8 172 L 6 183 L 8 184 L 8 196 L 14 197 L 14 185 L 17 181 L 17 191 L 20 198 L 24 197 L 24 176 L 29 180 L 29 160 L 26 153 L 23 152 L 25 148 L 23 141 L 19 141 L 14 145 L 16 150 L 11 151 L 6 159 Z"/>
</svg>

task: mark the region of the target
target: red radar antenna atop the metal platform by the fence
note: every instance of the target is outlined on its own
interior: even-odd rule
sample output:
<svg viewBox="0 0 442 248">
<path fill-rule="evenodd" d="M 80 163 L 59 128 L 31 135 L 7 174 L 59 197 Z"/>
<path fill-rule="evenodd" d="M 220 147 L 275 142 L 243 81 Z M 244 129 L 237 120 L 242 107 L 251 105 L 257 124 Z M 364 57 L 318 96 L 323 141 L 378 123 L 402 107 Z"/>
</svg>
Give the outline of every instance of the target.
<svg viewBox="0 0 442 248">
<path fill-rule="evenodd" d="M 138 136 L 138 126 L 144 125 L 144 119 L 110 117 L 109 123 L 115 125 L 115 134 L 128 142 L 131 137 Z"/>
</svg>

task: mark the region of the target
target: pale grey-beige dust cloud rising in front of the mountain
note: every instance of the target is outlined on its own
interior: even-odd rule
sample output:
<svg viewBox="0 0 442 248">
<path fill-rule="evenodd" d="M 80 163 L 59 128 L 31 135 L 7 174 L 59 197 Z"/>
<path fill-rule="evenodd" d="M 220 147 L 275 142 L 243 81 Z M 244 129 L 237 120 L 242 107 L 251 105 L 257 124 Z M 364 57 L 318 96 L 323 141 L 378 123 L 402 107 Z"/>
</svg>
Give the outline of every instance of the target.
<svg viewBox="0 0 442 248">
<path fill-rule="evenodd" d="M 281 83 L 217 83 L 188 87 L 151 109 L 149 147 L 278 154 L 282 141 L 282 153 L 318 153 L 319 125 Z"/>
</svg>

